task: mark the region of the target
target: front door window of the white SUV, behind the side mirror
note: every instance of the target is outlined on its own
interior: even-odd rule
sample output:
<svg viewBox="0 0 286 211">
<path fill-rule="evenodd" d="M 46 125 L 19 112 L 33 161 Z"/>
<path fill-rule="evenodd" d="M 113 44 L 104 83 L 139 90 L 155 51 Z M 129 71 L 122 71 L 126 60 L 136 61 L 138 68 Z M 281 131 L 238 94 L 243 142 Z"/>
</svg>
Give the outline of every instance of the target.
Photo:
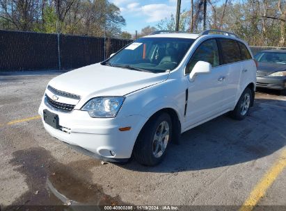
<svg viewBox="0 0 286 211">
<path fill-rule="evenodd" d="M 198 61 L 209 62 L 212 67 L 219 65 L 219 49 L 215 39 L 206 40 L 200 44 L 186 65 L 185 74 L 189 74 Z"/>
</svg>

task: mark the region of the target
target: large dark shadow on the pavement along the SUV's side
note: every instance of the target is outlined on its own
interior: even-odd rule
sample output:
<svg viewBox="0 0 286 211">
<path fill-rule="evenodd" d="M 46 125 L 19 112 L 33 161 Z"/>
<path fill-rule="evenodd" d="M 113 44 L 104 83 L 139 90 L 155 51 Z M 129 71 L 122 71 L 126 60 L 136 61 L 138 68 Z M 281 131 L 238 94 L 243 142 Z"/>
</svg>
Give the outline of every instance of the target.
<svg viewBox="0 0 286 211">
<path fill-rule="evenodd" d="M 285 117 L 286 101 L 256 99 L 243 121 L 223 115 L 183 133 L 182 143 L 170 144 L 156 167 L 143 166 L 134 159 L 122 167 L 175 173 L 255 162 L 286 145 Z"/>
</svg>

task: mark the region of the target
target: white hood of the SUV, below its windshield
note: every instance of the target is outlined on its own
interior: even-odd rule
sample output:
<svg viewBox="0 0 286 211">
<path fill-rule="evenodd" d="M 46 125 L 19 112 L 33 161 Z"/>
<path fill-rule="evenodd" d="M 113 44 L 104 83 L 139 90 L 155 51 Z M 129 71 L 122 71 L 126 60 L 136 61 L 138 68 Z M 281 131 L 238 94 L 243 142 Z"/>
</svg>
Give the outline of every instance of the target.
<svg viewBox="0 0 286 211">
<path fill-rule="evenodd" d="M 124 96 L 165 81 L 168 75 L 168 72 L 153 74 L 97 63 L 57 76 L 49 85 L 81 97 Z"/>
</svg>

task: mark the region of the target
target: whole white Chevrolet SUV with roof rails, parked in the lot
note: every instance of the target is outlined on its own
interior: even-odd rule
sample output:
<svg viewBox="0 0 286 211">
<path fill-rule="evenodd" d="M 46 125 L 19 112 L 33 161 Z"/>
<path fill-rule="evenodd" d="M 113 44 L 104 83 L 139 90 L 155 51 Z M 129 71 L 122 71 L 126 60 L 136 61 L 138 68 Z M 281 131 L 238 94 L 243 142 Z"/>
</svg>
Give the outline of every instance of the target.
<svg viewBox="0 0 286 211">
<path fill-rule="evenodd" d="M 157 32 L 52 79 L 39 114 L 53 137 L 86 155 L 155 165 L 184 131 L 226 112 L 244 119 L 256 69 L 232 33 Z"/>
</svg>

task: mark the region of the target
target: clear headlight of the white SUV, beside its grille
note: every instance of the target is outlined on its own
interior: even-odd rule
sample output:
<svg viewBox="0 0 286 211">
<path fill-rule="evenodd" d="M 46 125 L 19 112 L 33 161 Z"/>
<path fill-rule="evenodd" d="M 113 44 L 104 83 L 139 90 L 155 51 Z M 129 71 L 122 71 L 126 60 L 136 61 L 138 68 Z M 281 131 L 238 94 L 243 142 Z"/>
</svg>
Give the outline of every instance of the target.
<svg viewBox="0 0 286 211">
<path fill-rule="evenodd" d="M 90 99 L 81 110 L 88 111 L 90 117 L 112 118 L 120 110 L 124 96 L 101 96 Z"/>
</svg>

